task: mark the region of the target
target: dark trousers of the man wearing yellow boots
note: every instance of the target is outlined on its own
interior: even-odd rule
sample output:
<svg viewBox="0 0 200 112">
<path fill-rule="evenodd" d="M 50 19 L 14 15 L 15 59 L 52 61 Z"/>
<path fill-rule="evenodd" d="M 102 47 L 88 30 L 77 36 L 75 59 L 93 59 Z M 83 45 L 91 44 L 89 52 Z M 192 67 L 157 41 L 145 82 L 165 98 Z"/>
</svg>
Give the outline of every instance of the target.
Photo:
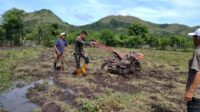
<svg viewBox="0 0 200 112">
<path fill-rule="evenodd" d="M 87 56 L 85 56 L 84 53 L 74 53 L 74 58 L 75 58 L 75 61 L 76 61 L 76 68 L 81 67 L 81 65 L 80 65 L 81 58 L 83 58 L 85 60 L 85 64 L 89 63 L 89 58 Z"/>
</svg>

